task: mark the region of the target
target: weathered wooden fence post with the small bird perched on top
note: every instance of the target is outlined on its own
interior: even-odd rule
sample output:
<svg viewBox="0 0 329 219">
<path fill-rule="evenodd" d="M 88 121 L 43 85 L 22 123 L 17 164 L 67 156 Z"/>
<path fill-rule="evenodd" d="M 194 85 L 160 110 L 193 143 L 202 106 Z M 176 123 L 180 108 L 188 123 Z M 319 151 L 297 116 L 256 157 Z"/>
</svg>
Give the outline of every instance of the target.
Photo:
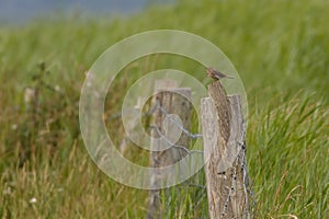
<svg viewBox="0 0 329 219">
<path fill-rule="evenodd" d="M 219 81 L 202 100 L 206 187 L 212 219 L 249 218 L 248 172 L 240 96 L 226 96 Z"/>
</svg>

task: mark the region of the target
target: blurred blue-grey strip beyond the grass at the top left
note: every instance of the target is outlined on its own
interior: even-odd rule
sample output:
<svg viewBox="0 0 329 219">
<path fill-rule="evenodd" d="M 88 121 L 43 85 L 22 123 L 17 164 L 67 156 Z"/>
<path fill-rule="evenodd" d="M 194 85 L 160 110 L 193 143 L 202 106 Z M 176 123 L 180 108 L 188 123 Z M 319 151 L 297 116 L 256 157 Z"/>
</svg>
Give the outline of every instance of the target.
<svg viewBox="0 0 329 219">
<path fill-rule="evenodd" d="M 145 9 L 147 5 L 170 4 L 174 0 L 1 0 L 0 21 L 7 23 L 26 23 L 39 16 L 56 18 L 56 14 L 70 15 L 81 12 L 83 16 L 100 16 L 111 13 L 129 14 Z"/>
</svg>

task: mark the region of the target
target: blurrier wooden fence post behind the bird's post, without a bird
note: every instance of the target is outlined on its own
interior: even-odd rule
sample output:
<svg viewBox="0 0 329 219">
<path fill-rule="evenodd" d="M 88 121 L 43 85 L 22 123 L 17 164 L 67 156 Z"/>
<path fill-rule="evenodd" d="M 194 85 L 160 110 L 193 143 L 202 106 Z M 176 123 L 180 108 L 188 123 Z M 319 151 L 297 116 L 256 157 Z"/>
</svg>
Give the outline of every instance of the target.
<svg viewBox="0 0 329 219">
<path fill-rule="evenodd" d="M 191 97 L 191 89 L 177 88 L 175 81 L 159 80 L 156 82 L 155 90 L 157 93 L 154 96 L 152 105 L 158 104 L 158 108 L 151 119 L 151 125 L 155 126 L 151 136 L 154 138 L 164 137 L 169 141 L 173 141 L 177 146 L 188 148 L 190 138 L 186 134 L 182 132 L 177 123 L 181 127 L 190 129 L 192 104 L 186 97 Z M 175 139 L 177 134 L 180 132 L 181 135 Z M 174 147 L 162 151 L 152 151 L 152 149 L 159 148 L 157 143 L 156 141 L 151 142 L 150 164 L 152 168 L 172 165 L 186 155 L 184 150 Z M 151 184 L 159 186 L 160 181 L 156 173 L 151 177 Z M 162 211 L 160 189 L 150 191 L 147 218 L 161 218 Z"/>
</svg>

